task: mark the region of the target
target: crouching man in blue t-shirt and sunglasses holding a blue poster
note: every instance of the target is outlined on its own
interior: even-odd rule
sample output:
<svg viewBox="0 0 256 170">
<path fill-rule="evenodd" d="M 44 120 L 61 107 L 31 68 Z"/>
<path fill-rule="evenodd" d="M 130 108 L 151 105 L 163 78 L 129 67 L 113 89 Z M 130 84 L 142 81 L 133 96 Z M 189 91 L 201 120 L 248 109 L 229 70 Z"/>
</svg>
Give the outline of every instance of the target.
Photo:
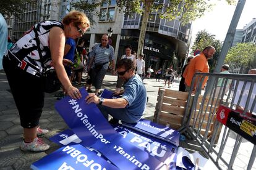
<svg viewBox="0 0 256 170">
<path fill-rule="evenodd" d="M 87 103 L 96 103 L 101 113 L 108 119 L 108 115 L 114 119 L 126 123 L 137 123 L 142 118 L 146 108 L 147 92 L 139 75 L 134 73 L 134 64 L 130 59 L 121 59 L 116 65 L 119 78 L 124 80 L 124 91 L 115 92 L 122 95 L 118 99 L 103 99 L 95 94 L 86 97 Z"/>
</svg>

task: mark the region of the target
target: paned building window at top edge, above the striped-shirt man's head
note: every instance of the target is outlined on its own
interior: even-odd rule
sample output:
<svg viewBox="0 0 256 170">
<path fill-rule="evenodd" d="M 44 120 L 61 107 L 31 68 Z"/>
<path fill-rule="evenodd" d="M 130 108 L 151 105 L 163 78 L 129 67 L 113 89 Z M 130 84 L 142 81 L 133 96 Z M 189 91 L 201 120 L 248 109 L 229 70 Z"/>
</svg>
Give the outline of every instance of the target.
<svg viewBox="0 0 256 170">
<path fill-rule="evenodd" d="M 116 0 L 106 1 L 100 8 L 100 21 L 114 21 L 116 14 Z"/>
</svg>

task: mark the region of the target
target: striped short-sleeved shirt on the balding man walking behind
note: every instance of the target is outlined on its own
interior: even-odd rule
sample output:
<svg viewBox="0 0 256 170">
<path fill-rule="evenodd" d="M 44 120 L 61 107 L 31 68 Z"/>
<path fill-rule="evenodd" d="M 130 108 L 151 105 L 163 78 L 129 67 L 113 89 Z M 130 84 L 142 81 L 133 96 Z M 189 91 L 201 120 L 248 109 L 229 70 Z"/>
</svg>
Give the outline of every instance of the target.
<svg viewBox="0 0 256 170">
<path fill-rule="evenodd" d="M 101 44 L 96 44 L 92 51 L 92 57 L 95 57 L 94 63 L 106 63 L 109 60 L 114 60 L 114 48 L 109 44 L 103 47 Z M 93 63 L 93 68 L 95 67 Z M 108 69 L 108 63 L 102 68 Z"/>
</svg>

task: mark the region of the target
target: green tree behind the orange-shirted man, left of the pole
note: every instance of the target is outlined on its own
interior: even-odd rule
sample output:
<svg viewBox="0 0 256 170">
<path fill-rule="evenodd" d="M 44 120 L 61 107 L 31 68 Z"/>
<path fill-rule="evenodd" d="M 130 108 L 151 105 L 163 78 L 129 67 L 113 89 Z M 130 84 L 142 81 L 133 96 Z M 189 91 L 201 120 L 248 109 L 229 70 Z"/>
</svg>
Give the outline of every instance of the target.
<svg viewBox="0 0 256 170">
<path fill-rule="evenodd" d="M 192 46 L 192 52 L 196 51 L 197 49 L 202 52 L 206 46 L 213 46 L 216 50 L 215 54 L 213 55 L 213 59 L 208 60 L 210 72 L 213 72 L 218 61 L 218 56 L 221 52 L 222 43 L 220 40 L 215 39 L 215 35 L 211 35 L 206 30 L 198 31 L 195 42 Z"/>
</svg>

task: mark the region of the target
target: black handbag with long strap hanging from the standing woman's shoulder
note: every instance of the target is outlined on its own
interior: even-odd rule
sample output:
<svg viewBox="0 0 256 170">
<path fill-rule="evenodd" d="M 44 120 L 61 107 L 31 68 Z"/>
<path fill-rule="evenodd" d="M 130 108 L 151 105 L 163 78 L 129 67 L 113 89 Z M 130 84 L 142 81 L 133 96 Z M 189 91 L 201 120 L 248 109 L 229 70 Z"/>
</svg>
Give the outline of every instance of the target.
<svg viewBox="0 0 256 170">
<path fill-rule="evenodd" d="M 40 42 L 37 33 L 39 26 L 40 24 L 38 23 L 36 28 L 33 28 L 33 31 L 35 31 L 36 46 L 38 48 L 38 54 L 40 56 L 40 62 L 43 68 L 43 71 L 41 73 L 41 78 L 43 82 L 42 86 L 43 91 L 47 93 L 52 93 L 58 91 L 61 88 L 61 82 L 58 79 L 55 69 L 53 67 L 45 67 L 45 64 L 43 62 L 43 56 L 41 54 Z"/>
</svg>

